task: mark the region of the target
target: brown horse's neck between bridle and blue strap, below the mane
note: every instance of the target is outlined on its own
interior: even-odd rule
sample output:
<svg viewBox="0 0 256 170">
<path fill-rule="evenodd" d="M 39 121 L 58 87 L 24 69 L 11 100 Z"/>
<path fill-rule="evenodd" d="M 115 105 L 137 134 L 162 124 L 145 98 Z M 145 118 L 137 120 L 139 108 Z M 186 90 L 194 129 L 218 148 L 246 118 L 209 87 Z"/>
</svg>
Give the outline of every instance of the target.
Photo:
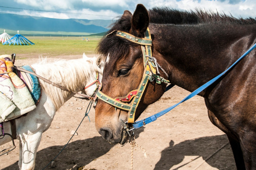
<svg viewBox="0 0 256 170">
<path fill-rule="evenodd" d="M 249 48 L 256 39 L 255 25 L 151 25 L 150 30 L 153 55 L 169 80 L 191 92 L 222 73 L 247 50 L 241 46 Z"/>
</svg>

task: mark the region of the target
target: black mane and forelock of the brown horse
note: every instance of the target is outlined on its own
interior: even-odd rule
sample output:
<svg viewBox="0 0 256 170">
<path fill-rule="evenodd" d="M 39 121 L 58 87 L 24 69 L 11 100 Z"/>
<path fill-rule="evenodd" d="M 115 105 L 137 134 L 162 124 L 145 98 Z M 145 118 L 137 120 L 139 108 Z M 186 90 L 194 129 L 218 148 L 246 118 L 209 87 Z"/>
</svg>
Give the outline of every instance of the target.
<svg viewBox="0 0 256 170">
<path fill-rule="evenodd" d="M 248 25 L 256 24 L 256 19 L 249 17 L 246 19 L 235 18 L 231 15 L 214 13 L 214 12 L 205 12 L 201 9 L 197 9 L 195 12 L 190 11 L 181 11 L 177 9 L 171 9 L 167 7 L 163 8 L 152 8 L 148 10 L 150 23 L 152 24 L 200 24 L 200 23 L 222 23 L 222 24 L 239 24 L 239 25 Z M 121 30 L 128 32 L 131 28 L 131 16 L 120 17 L 115 23 L 112 24 L 111 29 L 107 32 L 110 34 L 114 30 Z M 119 57 L 128 54 L 129 45 L 137 45 L 133 42 L 129 42 L 123 38 L 117 36 L 109 35 L 102 38 L 101 42 L 97 47 L 97 51 L 101 54 L 107 56 L 110 52 L 112 57 Z"/>
</svg>

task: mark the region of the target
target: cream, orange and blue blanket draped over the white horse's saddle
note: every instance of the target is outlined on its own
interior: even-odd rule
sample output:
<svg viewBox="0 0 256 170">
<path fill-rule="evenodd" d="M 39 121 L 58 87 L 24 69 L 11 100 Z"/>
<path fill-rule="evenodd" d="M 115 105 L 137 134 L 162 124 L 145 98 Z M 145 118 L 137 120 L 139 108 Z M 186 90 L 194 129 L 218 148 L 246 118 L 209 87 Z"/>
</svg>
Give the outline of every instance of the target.
<svg viewBox="0 0 256 170">
<path fill-rule="evenodd" d="M 41 91 L 35 90 L 39 86 L 37 80 L 31 79 L 27 85 L 22 78 L 19 78 L 12 70 L 13 63 L 9 55 L 0 56 L 0 122 L 15 119 L 23 114 L 34 110 L 35 103 L 40 98 Z M 30 68 L 31 69 L 31 68 Z M 23 75 L 23 74 L 20 74 Z M 23 77 L 23 76 L 21 76 Z M 27 76 L 29 79 L 30 76 Z M 24 78 L 26 79 L 26 78 Z M 31 86 L 31 93 L 36 91 L 37 94 L 31 95 L 27 86 Z M 39 97 L 38 97 L 39 95 Z M 36 101 L 36 102 L 34 102 Z"/>
</svg>

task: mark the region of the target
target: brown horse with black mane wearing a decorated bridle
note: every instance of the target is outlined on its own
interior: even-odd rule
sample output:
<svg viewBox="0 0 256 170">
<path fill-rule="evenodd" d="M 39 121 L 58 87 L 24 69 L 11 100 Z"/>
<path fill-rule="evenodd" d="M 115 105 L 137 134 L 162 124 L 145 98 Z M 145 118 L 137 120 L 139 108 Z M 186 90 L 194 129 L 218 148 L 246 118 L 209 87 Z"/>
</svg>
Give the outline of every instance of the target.
<svg viewBox="0 0 256 170">
<path fill-rule="evenodd" d="M 97 94 L 101 100 L 95 107 L 96 129 L 109 142 L 124 144 L 125 129 L 162 96 L 167 80 L 192 92 L 255 43 L 253 18 L 168 8 L 147 11 L 141 4 L 133 15 L 124 11 L 98 46 L 107 58 Z M 148 68 L 150 80 L 145 84 Z M 162 69 L 158 73 L 151 68 Z M 255 81 L 256 50 L 199 93 L 212 123 L 227 134 L 239 170 L 256 170 Z M 134 104 L 138 105 L 132 113 Z M 128 126 L 123 123 L 127 121 Z"/>
</svg>

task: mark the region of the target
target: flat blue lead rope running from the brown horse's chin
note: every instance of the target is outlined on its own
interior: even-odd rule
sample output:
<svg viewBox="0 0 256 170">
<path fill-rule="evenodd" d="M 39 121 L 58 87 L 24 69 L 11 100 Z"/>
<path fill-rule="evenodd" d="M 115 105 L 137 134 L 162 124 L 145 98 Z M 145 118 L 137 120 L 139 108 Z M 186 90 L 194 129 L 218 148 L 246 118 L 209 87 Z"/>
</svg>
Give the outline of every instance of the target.
<svg viewBox="0 0 256 170">
<path fill-rule="evenodd" d="M 205 90 L 205 88 L 207 88 L 209 85 L 212 85 L 216 80 L 218 80 L 221 76 L 223 76 L 227 71 L 229 71 L 231 68 L 233 68 L 241 59 L 243 59 L 245 56 L 247 56 L 247 54 L 249 52 L 251 52 L 254 48 L 256 47 L 256 43 L 248 50 L 246 51 L 234 64 L 232 64 L 228 69 L 226 69 L 224 72 L 222 72 L 219 76 L 214 77 L 212 80 L 208 81 L 207 83 L 205 83 L 204 85 L 202 85 L 201 87 L 199 87 L 198 89 L 196 89 L 194 92 L 190 93 L 187 97 L 185 97 L 182 101 L 180 101 L 179 103 L 160 111 L 159 113 L 154 114 L 153 116 L 150 116 L 146 119 L 137 121 L 133 124 L 134 128 L 139 128 L 142 127 L 143 125 L 149 124 L 153 121 L 155 121 L 157 118 L 159 118 L 160 116 L 164 115 L 165 113 L 169 112 L 170 110 L 172 110 L 173 108 L 175 108 L 176 106 L 178 106 L 180 103 L 187 101 L 188 99 L 194 97 L 196 94 L 202 92 L 203 90 Z"/>
</svg>

